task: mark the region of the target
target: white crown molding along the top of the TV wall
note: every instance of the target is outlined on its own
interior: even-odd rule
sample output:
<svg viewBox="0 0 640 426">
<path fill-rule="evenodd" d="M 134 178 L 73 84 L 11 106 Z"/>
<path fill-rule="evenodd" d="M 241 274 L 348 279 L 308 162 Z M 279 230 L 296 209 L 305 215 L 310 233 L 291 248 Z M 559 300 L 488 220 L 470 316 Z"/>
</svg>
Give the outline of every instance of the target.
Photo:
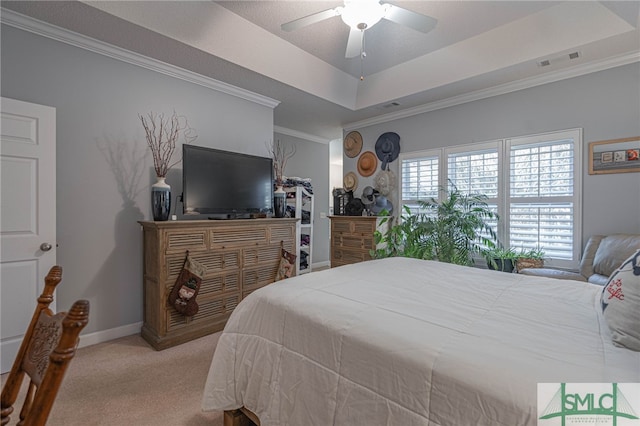
<svg viewBox="0 0 640 426">
<path fill-rule="evenodd" d="M 166 62 L 152 59 L 147 56 L 83 36 L 76 32 L 25 16 L 9 9 L 0 8 L 0 23 L 272 109 L 280 104 L 280 101 L 276 99 L 262 96 L 249 90 L 241 89 L 213 78 L 185 70 L 184 68 L 176 67 L 174 65 L 167 64 Z"/>
</svg>

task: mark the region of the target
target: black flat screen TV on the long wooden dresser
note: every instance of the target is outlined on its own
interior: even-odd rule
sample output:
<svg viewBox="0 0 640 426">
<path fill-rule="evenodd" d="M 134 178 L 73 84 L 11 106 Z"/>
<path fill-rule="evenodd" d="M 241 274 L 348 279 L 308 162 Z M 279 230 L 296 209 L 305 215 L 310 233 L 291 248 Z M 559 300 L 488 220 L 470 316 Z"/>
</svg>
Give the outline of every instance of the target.
<svg viewBox="0 0 640 426">
<path fill-rule="evenodd" d="M 184 144 L 182 185 L 185 216 L 246 219 L 270 213 L 273 160 Z"/>
</svg>

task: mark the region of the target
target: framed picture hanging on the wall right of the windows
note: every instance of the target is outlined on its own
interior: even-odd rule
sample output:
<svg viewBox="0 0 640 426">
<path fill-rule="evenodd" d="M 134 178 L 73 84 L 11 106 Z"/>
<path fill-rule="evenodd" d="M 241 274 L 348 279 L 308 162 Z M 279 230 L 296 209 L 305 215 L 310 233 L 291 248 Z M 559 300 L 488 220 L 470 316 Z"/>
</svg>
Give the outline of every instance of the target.
<svg viewBox="0 0 640 426">
<path fill-rule="evenodd" d="M 589 174 L 640 172 L 640 136 L 589 144 Z"/>
</svg>

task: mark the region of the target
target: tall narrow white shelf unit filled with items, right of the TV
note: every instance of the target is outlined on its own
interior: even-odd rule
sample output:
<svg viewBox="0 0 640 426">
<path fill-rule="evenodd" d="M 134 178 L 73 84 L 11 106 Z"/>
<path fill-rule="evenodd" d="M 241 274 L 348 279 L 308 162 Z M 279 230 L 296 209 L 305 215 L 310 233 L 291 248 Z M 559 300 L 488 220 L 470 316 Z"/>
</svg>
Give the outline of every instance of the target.
<svg viewBox="0 0 640 426">
<path fill-rule="evenodd" d="M 313 194 L 304 186 L 286 188 L 287 206 L 296 219 L 296 275 L 311 272 L 313 257 Z"/>
</svg>

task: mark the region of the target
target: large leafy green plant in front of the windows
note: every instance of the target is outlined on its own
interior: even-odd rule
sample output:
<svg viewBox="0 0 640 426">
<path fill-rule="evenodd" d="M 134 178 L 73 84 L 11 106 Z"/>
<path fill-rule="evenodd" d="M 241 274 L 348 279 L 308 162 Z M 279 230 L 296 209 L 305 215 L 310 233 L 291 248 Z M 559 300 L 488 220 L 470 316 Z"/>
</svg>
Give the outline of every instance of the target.
<svg viewBox="0 0 640 426">
<path fill-rule="evenodd" d="M 441 201 L 419 201 L 420 213 L 403 206 L 402 220 L 385 233 L 376 232 L 374 258 L 405 256 L 425 260 L 472 265 L 473 255 L 494 245 L 496 235 L 488 221 L 498 215 L 487 205 L 483 194 L 464 194 L 450 185 L 441 189 Z M 384 219 L 383 219 L 384 220 Z"/>
</svg>

